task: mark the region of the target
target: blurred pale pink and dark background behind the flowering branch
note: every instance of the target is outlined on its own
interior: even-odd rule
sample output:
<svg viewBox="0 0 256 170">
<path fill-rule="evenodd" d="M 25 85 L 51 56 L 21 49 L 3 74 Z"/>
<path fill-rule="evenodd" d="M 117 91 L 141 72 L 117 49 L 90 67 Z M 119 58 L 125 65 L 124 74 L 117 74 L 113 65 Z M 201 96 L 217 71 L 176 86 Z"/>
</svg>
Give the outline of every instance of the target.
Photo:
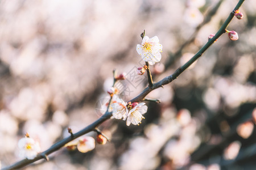
<svg viewBox="0 0 256 170">
<path fill-rule="evenodd" d="M 19 158 L 28 132 L 42 150 L 101 116 L 113 69 L 126 72 L 120 97 L 146 86 L 135 74 L 141 33 L 158 36 L 154 82 L 172 74 L 216 33 L 238 0 L 0 1 L 0 166 Z M 93 151 L 63 148 L 24 169 L 255 169 L 256 1 L 242 20 L 174 82 L 152 91 L 139 126 L 108 120 L 112 141 Z M 103 106 L 102 106 L 103 105 Z M 89 133 L 96 137 L 95 133 Z"/>
</svg>

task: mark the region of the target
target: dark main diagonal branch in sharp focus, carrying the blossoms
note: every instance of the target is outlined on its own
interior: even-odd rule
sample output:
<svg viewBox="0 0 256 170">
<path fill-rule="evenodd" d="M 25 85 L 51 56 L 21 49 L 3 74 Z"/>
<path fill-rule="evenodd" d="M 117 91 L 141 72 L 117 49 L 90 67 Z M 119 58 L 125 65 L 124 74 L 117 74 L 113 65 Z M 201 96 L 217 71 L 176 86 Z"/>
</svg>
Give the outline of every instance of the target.
<svg viewBox="0 0 256 170">
<path fill-rule="evenodd" d="M 218 39 L 218 37 L 220 37 L 223 33 L 225 33 L 226 28 L 228 27 L 229 23 L 231 22 L 231 20 L 234 17 L 234 11 L 238 10 L 242 3 L 245 0 L 240 0 L 237 3 L 237 6 L 234 8 L 234 10 L 230 13 L 230 15 L 228 16 L 228 18 L 226 19 L 226 21 L 224 22 L 224 24 L 221 26 L 221 28 L 218 30 L 218 32 L 216 33 L 216 35 L 210 39 L 207 44 L 205 44 L 200 50 L 199 52 L 197 52 L 195 54 L 195 56 L 193 56 L 187 63 L 185 63 L 183 66 L 179 67 L 179 69 L 177 69 L 174 74 L 167 76 L 166 78 L 163 78 L 162 80 L 160 80 L 157 83 L 152 84 L 152 87 L 147 87 L 145 88 L 141 94 L 139 94 L 137 97 L 134 97 L 134 99 L 130 100 L 131 103 L 136 102 L 136 101 L 143 101 L 144 98 L 147 96 L 147 94 L 149 94 L 152 90 L 155 90 L 156 88 L 159 87 L 163 87 L 166 84 L 171 83 L 173 80 L 175 80 L 177 78 L 177 76 L 179 76 L 181 73 L 183 73 L 183 71 L 185 69 L 187 69 L 193 62 L 196 61 L 196 59 L 198 59 L 199 57 L 201 57 L 203 55 L 203 53 L 205 52 L 205 50 L 207 50 L 209 48 L 210 45 L 213 44 L 213 42 L 215 40 Z M 89 133 L 90 131 L 93 131 L 94 129 L 96 129 L 98 126 L 100 126 L 103 122 L 105 122 L 106 120 L 108 120 L 110 117 L 112 116 L 112 112 L 109 112 L 108 110 L 106 111 L 106 113 L 104 115 L 102 115 L 100 118 L 98 118 L 98 120 L 94 121 L 92 124 L 86 126 L 84 129 L 80 130 L 79 132 L 70 135 L 67 138 L 62 139 L 59 142 L 56 142 L 54 145 L 52 145 L 51 147 L 48 148 L 48 150 L 43 151 L 42 153 L 38 154 L 38 156 L 36 156 L 34 159 L 23 159 L 20 160 L 19 162 L 16 162 L 12 165 L 10 165 L 9 167 L 5 167 L 2 168 L 2 170 L 7 170 L 7 169 L 18 169 L 18 168 L 22 168 L 25 167 L 28 164 L 34 163 L 37 160 L 40 159 L 45 159 L 48 158 L 48 155 L 51 154 L 52 152 L 55 152 L 57 150 L 59 150 L 61 147 L 63 147 L 65 144 L 67 144 L 68 142 L 71 142 L 73 139 L 76 139 L 78 137 L 80 137 L 81 135 L 84 135 L 86 133 Z"/>
</svg>

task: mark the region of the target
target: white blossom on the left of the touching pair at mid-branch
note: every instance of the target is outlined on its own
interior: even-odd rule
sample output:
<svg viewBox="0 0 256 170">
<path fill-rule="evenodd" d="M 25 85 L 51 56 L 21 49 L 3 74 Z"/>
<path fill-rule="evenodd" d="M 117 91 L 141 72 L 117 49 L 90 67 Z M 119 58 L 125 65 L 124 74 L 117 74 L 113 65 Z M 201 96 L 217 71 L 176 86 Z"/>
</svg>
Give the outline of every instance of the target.
<svg viewBox="0 0 256 170">
<path fill-rule="evenodd" d="M 128 114 L 129 110 L 126 107 L 126 102 L 122 99 L 117 99 L 115 103 L 111 105 L 112 107 L 112 114 L 113 117 L 116 119 L 122 119 L 125 120 L 126 115 Z"/>
</svg>

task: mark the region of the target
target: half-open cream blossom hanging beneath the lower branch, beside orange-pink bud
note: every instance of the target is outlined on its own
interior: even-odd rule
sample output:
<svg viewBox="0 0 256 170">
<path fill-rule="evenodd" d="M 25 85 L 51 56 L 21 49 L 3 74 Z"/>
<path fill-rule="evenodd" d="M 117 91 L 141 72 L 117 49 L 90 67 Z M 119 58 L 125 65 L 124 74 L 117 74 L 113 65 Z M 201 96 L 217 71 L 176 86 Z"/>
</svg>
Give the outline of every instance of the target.
<svg viewBox="0 0 256 170">
<path fill-rule="evenodd" d="M 79 139 L 77 143 L 77 150 L 82 153 L 91 151 L 95 148 L 95 139 L 93 137 L 85 136 Z"/>
</svg>

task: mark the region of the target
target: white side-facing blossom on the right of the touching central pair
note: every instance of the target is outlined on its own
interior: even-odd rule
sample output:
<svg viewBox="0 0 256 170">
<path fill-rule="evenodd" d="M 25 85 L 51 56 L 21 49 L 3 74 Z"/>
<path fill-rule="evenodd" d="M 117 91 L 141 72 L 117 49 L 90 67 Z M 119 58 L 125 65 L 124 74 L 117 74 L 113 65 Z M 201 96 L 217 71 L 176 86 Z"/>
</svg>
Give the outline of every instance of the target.
<svg viewBox="0 0 256 170">
<path fill-rule="evenodd" d="M 135 105 L 133 108 L 130 109 L 129 113 L 127 114 L 126 125 L 130 126 L 130 124 L 133 124 L 133 125 L 141 124 L 141 120 L 144 118 L 142 114 L 146 112 L 147 112 L 147 105 L 145 105 L 145 103 L 139 103 Z M 123 118 L 123 120 L 125 119 L 126 117 Z"/>
</svg>

